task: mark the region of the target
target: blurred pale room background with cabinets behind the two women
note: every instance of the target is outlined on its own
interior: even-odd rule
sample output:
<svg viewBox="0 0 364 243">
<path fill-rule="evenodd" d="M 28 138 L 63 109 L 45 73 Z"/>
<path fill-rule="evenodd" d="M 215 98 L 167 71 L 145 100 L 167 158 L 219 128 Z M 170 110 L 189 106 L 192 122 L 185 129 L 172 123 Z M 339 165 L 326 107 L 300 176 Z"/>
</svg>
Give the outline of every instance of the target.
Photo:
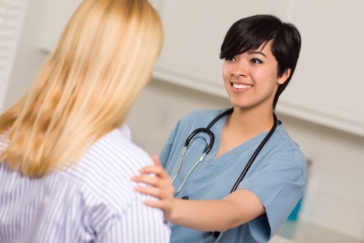
<svg viewBox="0 0 364 243">
<path fill-rule="evenodd" d="M 0 0 L 1 111 L 31 85 L 80 2 Z M 187 112 L 228 107 L 218 59 L 227 29 L 249 15 L 277 15 L 303 40 L 277 115 L 310 163 L 302 201 L 272 242 L 364 242 L 364 2 L 151 2 L 164 47 L 128 117 L 133 140 L 158 154 Z"/>
</svg>

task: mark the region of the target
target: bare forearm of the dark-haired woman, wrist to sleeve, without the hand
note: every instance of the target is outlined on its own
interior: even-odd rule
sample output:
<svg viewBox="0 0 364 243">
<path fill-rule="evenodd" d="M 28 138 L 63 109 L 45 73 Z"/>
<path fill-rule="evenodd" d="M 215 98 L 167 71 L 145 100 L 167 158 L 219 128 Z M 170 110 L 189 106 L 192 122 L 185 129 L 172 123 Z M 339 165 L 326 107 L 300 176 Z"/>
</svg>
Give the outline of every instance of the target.
<svg viewBox="0 0 364 243">
<path fill-rule="evenodd" d="M 227 231 L 266 212 L 248 190 L 236 190 L 222 200 L 173 199 L 167 220 L 198 231 Z"/>
</svg>

